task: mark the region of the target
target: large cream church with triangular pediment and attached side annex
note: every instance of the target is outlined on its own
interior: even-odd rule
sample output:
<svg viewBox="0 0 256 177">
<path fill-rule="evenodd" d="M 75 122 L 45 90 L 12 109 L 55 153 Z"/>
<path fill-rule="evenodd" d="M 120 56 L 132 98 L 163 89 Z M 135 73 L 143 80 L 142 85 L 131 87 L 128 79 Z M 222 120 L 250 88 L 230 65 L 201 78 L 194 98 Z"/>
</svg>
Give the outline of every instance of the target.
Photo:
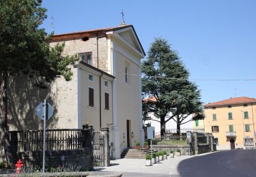
<svg viewBox="0 0 256 177">
<path fill-rule="evenodd" d="M 42 129 L 35 107 L 44 98 L 55 108 L 47 129 L 98 131 L 109 127 L 113 158 L 144 142 L 141 106 L 141 59 L 145 52 L 132 25 L 54 35 L 51 46 L 65 42 L 63 56 L 76 54 L 72 80 L 57 78 L 48 88 L 35 80 L 10 82 L 10 130 Z"/>
</svg>

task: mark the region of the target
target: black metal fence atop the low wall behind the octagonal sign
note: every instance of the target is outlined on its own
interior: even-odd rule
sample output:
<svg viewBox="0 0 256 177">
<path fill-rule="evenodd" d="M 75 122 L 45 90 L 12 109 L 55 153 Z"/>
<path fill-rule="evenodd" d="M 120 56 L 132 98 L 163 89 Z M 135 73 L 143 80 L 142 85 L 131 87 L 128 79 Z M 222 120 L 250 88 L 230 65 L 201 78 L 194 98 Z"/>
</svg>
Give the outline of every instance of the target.
<svg viewBox="0 0 256 177">
<path fill-rule="evenodd" d="M 89 129 L 48 129 L 46 150 L 74 150 L 87 144 Z M 10 131 L 16 152 L 43 150 L 43 130 Z"/>
</svg>

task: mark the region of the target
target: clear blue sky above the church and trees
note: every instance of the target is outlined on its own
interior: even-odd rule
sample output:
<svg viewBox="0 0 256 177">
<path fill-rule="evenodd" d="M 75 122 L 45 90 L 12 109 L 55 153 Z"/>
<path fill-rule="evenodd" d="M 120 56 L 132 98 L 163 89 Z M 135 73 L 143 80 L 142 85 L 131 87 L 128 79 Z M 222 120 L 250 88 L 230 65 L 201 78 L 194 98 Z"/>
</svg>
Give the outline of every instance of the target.
<svg viewBox="0 0 256 177">
<path fill-rule="evenodd" d="M 256 1 L 79 1 L 44 0 L 47 32 L 69 33 L 134 25 L 145 52 L 155 37 L 176 50 L 201 90 L 204 103 L 256 97 Z M 52 18 L 51 18 L 52 17 Z M 51 27 L 53 23 L 53 27 Z"/>
</svg>

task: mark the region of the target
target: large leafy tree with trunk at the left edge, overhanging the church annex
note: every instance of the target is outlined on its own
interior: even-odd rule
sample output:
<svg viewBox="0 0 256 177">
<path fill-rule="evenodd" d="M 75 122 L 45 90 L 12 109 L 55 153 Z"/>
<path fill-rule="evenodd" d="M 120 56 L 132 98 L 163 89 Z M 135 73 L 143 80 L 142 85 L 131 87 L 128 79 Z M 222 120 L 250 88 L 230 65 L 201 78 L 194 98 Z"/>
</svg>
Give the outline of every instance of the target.
<svg viewBox="0 0 256 177">
<path fill-rule="evenodd" d="M 38 85 L 57 76 L 72 77 L 68 65 L 76 57 L 63 57 L 64 44 L 51 47 L 51 36 L 40 28 L 46 19 L 41 0 L 0 0 L 0 101 L 1 143 L 8 164 L 13 166 L 8 135 L 8 81 L 21 74 L 38 79 Z"/>
</svg>

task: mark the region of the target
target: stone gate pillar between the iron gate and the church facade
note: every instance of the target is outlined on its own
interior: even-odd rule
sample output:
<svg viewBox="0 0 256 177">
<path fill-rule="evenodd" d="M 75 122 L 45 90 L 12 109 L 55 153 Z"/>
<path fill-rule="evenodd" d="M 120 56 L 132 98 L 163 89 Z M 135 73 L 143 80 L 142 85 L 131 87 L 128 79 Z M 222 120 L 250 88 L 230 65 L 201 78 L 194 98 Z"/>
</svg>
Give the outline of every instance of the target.
<svg viewBox="0 0 256 177">
<path fill-rule="evenodd" d="M 108 127 L 101 128 L 100 133 L 104 137 L 104 167 L 109 167 L 110 165 L 109 128 Z"/>
</svg>

